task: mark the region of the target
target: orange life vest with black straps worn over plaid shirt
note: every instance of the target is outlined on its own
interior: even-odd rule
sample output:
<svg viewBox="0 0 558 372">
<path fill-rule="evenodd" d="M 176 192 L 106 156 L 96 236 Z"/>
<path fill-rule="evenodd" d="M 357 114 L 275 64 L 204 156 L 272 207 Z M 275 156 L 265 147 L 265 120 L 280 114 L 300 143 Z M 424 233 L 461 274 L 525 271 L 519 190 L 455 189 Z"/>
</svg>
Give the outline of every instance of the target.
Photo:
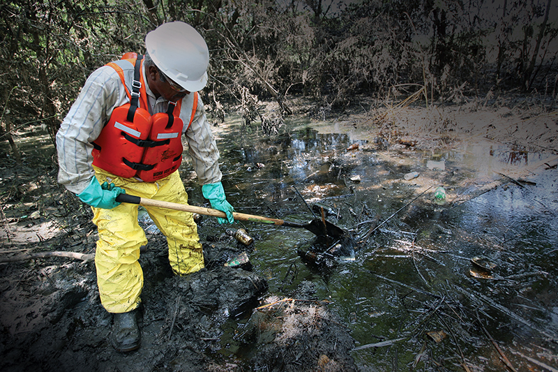
<svg viewBox="0 0 558 372">
<path fill-rule="evenodd" d="M 130 103 L 112 111 L 107 125 L 93 142 L 93 165 L 119 177 L 137 177 L 153 182 L 167 177 L 182 162 L 184 123 L 179 117 L 182 100 L 169 102 L 167 112 L 151 116 L 143 108 L 148 106 L 142 65 L 142 58 L 137 58 L 135 53 L 124 54 L 121 61 L 107 64 L 119 74 Z M 129 72 L 131 68 L 134 69 L 134 80 L 127 84 L 125 70 Z M 128 85 L 131 85 L 131 92 Z M 188 128 L 196 109 L 197 92 L 194 93 Z"/>
</svg>

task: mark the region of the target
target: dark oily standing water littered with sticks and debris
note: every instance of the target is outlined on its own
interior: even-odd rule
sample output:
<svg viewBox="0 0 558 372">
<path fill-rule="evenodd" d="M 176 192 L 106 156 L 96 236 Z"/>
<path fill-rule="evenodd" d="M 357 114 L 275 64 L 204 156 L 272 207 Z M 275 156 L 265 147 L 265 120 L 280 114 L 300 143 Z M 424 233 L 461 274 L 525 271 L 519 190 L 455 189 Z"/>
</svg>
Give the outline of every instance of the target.
<svg viewBox="0 0 558 372">
<path fill-rule="evenodd" d="M 311 232 L 236 223 L 255 238 L 252 271 L 269 293 L 289 297 L 311 281 L 350 329 L 362 371 L 504 371 L 506 361 L 557 371 L 558 174 L 504 177 L 548 154 L 471 143 L 423 153 L 327 124 L 320 132 L 306 122 L 273 137 L 239 121 L 216 128 L 236 211 L 306 223 L 319 202 L 357 241 L 354 260 L 315 267 L 297 253 Z M 195 176 L 183 178 L 202 200 Z M 446 198 L 435 198 L 439 186 Z M 248 360 L 258 347 L 234 337 L 246 321 L 224 327 L 223 355 Z"/>
</svg>

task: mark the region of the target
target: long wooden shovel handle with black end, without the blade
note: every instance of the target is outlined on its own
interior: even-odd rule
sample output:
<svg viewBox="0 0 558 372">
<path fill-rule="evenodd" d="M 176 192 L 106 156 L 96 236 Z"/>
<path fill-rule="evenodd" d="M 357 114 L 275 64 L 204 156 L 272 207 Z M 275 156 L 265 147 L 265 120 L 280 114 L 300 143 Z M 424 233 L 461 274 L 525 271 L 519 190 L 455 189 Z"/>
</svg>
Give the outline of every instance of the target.
<svg viewBox="0 0 558 372">
<path fill-rule="evenodd" d="M 190 213 L 203 214 L 204 216 L 227 218 L 225 212 L 218 211 L 217 209 L 195 207 L 194 205 L 179 204 L 173 202 L 163 202 L 163 200 L 140 198 L 139 196 L 128 195 L 128 194 L 118 195 L 116 197 L 116 201 L 123 202 L 123 203 L 130 203 L 130 204 L 140 204 L 147 207 L 159 207 L 159 208 L 175 209 L 177 211 L 187 211 Z M 237 221 L 253 221 L 253 222 L 260 222 L 260 223 L 269 223 L 271 225 L 285 224 L 285 221 L 277 218 L 255 216 L 253 214 L 232 212 L 232 216 Z"/>
</svg>

